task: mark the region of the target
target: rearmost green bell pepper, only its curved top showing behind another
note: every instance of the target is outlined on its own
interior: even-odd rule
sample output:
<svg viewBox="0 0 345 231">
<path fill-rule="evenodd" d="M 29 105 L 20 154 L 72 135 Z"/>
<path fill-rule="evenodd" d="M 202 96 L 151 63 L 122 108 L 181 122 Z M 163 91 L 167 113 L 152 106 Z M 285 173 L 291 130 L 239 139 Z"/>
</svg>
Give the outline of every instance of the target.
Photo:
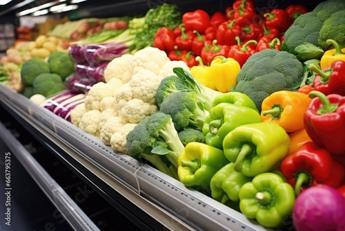
<svg viewBox="0 0 345 231">
<path fill-rule="evenodd" d="M 215 107 L 218 104 L 221 104 L 222 102 L 249 107 L 250 109 L 254 109 L 255 111 L 259 113 L 259 110 L 257 110 L 257 107 L 255 105 L 255 102 L 252 99 L 250 99 L 248 95 L 244 93 L 230 91 L 227 93 L 223 93 L 221 95 L 217 95 L 213 99 L 212 107 Z"/>
</svg>

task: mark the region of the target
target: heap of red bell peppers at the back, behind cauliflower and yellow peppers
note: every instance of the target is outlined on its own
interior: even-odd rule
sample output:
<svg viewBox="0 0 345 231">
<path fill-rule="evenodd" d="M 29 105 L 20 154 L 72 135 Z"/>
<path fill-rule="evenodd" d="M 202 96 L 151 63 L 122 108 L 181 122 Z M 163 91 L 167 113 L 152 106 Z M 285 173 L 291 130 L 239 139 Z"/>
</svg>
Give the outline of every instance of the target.
<svg viewBox="0 0 345 231">
<path fill-rule="evenodd" d="M 232 57 L 242 67 L 246 59 L 265 48 L 280 50 L 284 33 L 294 20 L 307 12 L 302 5 L 257 12 L 255 1 L 236 0 L 225 12 L 212 16 L 204 10 L 186 12 L 173 30 L 160 28 L 153 46 L 165 50 L 171 60 L 188 66 L 209 65 L 221 55 Z M 201 59 L 196 60 L 199 56 Z"/>
</svg>

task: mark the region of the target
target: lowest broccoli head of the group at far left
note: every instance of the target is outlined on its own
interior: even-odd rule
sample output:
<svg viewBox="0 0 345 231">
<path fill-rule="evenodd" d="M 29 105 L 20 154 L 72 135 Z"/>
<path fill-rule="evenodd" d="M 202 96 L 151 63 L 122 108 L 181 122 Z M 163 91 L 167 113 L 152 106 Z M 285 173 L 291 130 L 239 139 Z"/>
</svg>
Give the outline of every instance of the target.
<svg viewBox="0 0 345 231">
<path fill-rule="evenodd" d="M 59 75 L 53 73 L 42 73 L 34 78 L 32 88 L 34 94 L 41 94 L 48 97 L 59 93 L 59 91 L 63 91 L 65 86 L 63 85 Z"/>
</svg>

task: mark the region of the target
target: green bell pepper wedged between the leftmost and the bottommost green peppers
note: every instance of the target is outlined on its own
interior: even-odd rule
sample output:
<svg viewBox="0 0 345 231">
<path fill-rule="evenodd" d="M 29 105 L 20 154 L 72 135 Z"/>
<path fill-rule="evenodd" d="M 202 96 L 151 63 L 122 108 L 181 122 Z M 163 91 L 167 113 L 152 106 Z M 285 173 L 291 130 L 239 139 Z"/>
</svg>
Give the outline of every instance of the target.
<svg viewBox="0 0 345 231">
<path fill-rule="evenodd" d="M 216 201 L 229 207 L 239 201 L 239 189 L 244 183 L 252 181 L 252 177 L 244 176 L 234 170 L 234 163 L 228 163 L 211 178 L 211 196 Z"/>
</svg>

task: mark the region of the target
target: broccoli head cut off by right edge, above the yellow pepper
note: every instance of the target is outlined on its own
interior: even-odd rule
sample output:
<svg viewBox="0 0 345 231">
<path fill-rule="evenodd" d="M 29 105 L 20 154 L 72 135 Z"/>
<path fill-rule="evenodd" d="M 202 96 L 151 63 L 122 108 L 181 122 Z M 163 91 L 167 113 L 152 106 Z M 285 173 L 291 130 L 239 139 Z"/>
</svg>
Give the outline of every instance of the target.
<svg viewBox="0 0 345 231">
<path fill-rule="evenodd" d="M 328 50 L 330 44 L 326 42 L 327 39 L 337 41 L 340 46 L 345 45 L 345 9 L 339 10 L 331 15 L 322 26 L 319 34 L 319 46 L 322 49 Z"/>
</svg>

